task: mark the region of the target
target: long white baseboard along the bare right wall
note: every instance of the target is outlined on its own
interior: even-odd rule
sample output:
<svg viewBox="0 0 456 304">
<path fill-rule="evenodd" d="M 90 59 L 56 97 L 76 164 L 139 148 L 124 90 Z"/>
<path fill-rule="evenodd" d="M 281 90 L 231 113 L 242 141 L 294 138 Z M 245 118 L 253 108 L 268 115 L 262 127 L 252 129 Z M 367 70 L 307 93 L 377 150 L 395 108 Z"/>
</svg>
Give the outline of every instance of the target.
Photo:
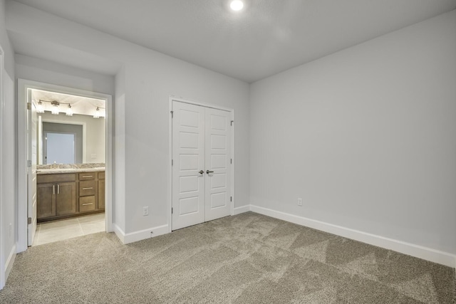
<svg viewBox="0 0 456 304">
<path fill-rule="evenodd" d="M 246 208 L 247 206 L 239 207 Z M 259 206 L 249 205 L 249 210 L 254 211 L 259 214 L 264 214 L 266 216 L 271 216 L 276 219 L 282 219 L 284 221 L 289 221 L 294 224 L 299 224 L 302 226 L 307 226 L 313 229 L 318 229 L 321 231 L 328 232 L 330 234 L 336 234 L 338 236 L 343 236 L 348 239 L 353 239 L 356 241 L 361 241 L 363 243 L 368 243 L 374 246 L 379 246 L 382 248 L 390 249 L 393 251 L 398 251 L 400 253 L 408 254 L 409 256 L 415 256 L 416 258 L 423 258 L 423 260 L 431 261 L 434 263 L 439 263 L 445 266 L 450 266 L 452 268 L 456 267 L 456 255 L 452 253 L 447 253 L 444 251 L 438 251 L 432 248 L 427 248 L 424 246 L 415 245 L 413 243 L 407 243 L 404 241 L 398 241 L 395 239 L 385 238 L 383 236 L 378 236 L 375 234 L 368 234 L 363 231 L 358 231 L 355 229 L 349 229 L 343 226 L 337 226 L 333 224 L 328 224 L 323 221 L 316 221 L 314 219 L 308 219 L 303 216 L 296 216 L 293 214 L 287 214 L 281 211 L 275 211 L 272 209 L 267 209 Z M 239 212 L 241 213 L 241 212 Z"/>
</svg>

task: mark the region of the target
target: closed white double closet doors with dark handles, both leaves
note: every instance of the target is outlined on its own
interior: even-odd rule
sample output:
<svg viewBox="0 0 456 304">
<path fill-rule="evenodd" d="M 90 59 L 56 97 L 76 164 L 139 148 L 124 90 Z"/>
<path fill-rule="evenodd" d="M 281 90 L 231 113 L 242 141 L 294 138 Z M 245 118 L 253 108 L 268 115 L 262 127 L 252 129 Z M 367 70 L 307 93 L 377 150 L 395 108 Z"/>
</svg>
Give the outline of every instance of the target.
<svg viewBox="0 0 456 304">
<path fill-rule="evenodd" d="M 172 101 L 172 230 L 231 215 L 232 113 Z"/>
</svg>

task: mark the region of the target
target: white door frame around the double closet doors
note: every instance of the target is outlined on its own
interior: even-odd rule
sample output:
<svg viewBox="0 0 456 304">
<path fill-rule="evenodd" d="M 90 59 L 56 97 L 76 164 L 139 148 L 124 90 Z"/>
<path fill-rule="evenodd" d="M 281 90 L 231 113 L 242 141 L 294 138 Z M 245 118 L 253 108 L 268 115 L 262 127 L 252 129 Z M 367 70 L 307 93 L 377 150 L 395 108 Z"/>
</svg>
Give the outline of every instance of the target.
<svg viewBox="0 0 456 304">
<path fill-rule="evenodd" d="M 224 110 L 227 112 L 231 112 L 231 119 L 232 119 L 232 135 L 231 135 L 231 155 L 233 159 L 233 163 L 231 166 L 231 196 L 233 198 L 231 202 L 231 215 L 234 215 L 234 201 L 236 200 L 234 197 L 234 165 L 236 163 L 236 157 L 234 157 L 234 109 L 226 108 L 221 105 L 214 105 L 212 103 L 202 103 L 195 100 L 190 100 L 186 98 L 181 98 L 177 96 L 170 95 L 169 103 L 168 103 L 168 166 L 170 166 L 168 170 L 168 212 L 167 212 L 167 223 L 168 223 L 168 232 L 172 231 L 172 102 L 178 101 L 180 103 L 188 103 L 190 105 L 199 105 L 201 107 L 212 108 L 217 110 Z"/>
</svg>

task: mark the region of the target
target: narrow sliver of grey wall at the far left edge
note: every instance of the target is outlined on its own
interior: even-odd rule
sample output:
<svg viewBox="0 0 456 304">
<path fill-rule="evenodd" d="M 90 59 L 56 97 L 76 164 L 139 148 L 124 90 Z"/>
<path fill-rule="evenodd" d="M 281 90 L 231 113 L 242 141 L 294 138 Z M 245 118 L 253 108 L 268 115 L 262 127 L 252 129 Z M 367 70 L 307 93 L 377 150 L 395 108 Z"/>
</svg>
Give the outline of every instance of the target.
<svg viewBox="0 0 456 304">
<path fill-rule="evenodd" d="M 3 91 L 1 94 L 4 97 L 3 105 L 0 105 L 1 110 L 1 227 L 0 241 L 3 240 L 3 251 L 0 252 L 0 263 L 8 274 L 9 267 L 12 266 L 12 261 L 16 254 L 16 199 L 17 192 L 16 180 L 16 107 L 14 103 L 14 56 L 9 38 L 6 33 L 5 20 L 5 2 L 0 0 L 0 46 L 4 51 L 4 79 Z M 1 67 L 0 67 L 1 68 Z M 11 227 L 11 228 L 10 228 Z M 0 288 L 3 286 L 0 284 Z"/>
</svg>

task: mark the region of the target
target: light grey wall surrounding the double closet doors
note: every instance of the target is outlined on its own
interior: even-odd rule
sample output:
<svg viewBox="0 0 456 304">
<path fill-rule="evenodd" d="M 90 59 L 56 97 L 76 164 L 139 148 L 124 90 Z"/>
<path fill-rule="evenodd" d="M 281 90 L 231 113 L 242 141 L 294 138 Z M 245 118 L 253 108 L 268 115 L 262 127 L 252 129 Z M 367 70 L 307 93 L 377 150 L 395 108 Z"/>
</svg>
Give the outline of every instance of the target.
<svg viewBox="0 0 456 304">
<path fill-rule="evenodd" d="M 37 11 L 15 1 L 7 5 L 9 31 L 65 48 L 123 63 L 116 77 L 115 116 L 115 225 L 127 234 L 167 225 L 168 98 L 212 103 L 234 109 L 234 205 L 249 202 L 249 85 L 200 68 L 86 26 Z M 62 29 L 65 29 L 62 31 Z M 103 43 L 100 43 L 103 41 Z M 123 121 L 125 125 L 122 125 Z M 117 125 L 120 123 L 120 125 Z M 117 151 L 120 147 L 120 151 Z M 125 150 L 123 150 L 125 149 Z M 124 171 L 125 170 L 125 171 Z M 125 174 L 123 174 L 125 172 Z M 125 198 L 125 204 L 122 201 Z M 125 206 L 125 214 L 121 208 Z M 142 216 L 148 206 L 149 216 Z M 118 209 L 120 208 L 120 209 Z M 119 217 L 124 217 L 123 220 Z M 150 232 L 145 234 L 150 236 Z"/>
</svg>

